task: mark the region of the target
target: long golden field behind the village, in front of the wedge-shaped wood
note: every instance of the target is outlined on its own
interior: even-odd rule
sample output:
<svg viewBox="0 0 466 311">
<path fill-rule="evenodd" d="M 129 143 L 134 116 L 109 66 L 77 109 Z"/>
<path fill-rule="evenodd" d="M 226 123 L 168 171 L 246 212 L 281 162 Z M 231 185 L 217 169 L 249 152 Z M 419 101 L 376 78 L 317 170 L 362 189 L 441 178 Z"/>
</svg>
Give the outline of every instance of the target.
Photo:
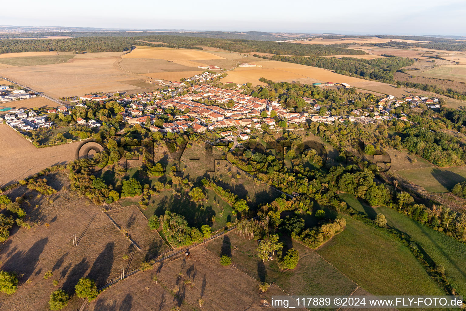
<svg viewBox="0 0 466 311">
<path fill-rule="evenodd" d="M 261 84 L 260 77 L 273 81 L 283 81 L 289 79 L 299 80 L 305 83 L 314 82 L 346 82 L 356 87 L 366 87 L 371 85 L 384 85 L 384 83 L 363 80 L 350 76 L 336 74 L 330 70 L 311 66 L 299 65 L 290 62 L 266 61 L 260 62 L 262 67 L 235 68 L 228 71 L 223 82 Z M 308 80 L 308 81 L 307 81 Z"/>
</svg>

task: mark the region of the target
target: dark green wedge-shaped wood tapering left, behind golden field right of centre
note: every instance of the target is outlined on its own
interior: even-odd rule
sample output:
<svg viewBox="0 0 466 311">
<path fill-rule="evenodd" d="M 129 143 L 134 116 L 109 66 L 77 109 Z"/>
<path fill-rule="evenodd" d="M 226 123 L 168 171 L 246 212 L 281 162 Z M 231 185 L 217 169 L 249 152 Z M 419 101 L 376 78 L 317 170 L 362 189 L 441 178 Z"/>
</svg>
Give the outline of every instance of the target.
<svg viewBox="0 0 466 311">
<path fill-rule="evenodd" d="M 404 57 L 387 57 L 377 59 L 361 59 L 353 57 L 296 57 L 274 55 L 272 57 L 260 56 L 280 62 L 293 62 L 306 66 L 335 70 L 336 73 L 345 76 L 358 76 L 373 79 L 385 83 L 394 83 L 393 73 L 398 69 L 414 63 L 413 60 Z"/>
</svg>

